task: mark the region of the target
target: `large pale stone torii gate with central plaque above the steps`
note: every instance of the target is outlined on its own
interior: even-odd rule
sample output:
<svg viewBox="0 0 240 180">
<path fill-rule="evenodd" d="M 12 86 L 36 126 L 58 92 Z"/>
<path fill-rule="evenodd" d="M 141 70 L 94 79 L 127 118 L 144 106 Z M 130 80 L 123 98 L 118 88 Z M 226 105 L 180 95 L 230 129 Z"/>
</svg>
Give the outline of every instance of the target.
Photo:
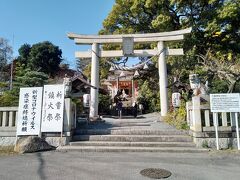
<svg viewBox="0 0 240 180">
<path fill-rule="evenodd" d="M 161 115 L 166 116 L 168 112 L 168 91 L 167 91 L 167 66 L 165 57 L 167 55 L 183 55 L 183 49 L 165 48 L 166 41 L 180 41 L 184 39 L 184 34 L 189 34 L 191 28 L 147 34 L 123 34 L 123 35 L 81 35 L 68 33 L 67 36 L 73 39 L 77 45 L 92 45 L 91 51 L 75 52 L 76 58 L 92 58 L 91 61 L 91 101 L 89 117 L 98 117 L 98 89 L 99 89 L 99 58 L 104 57 L 150 57 L 159 55 L 158 71 L 160 86 Z M 157 42 L 156 49 L 134 50 L 134 43 Z M 100 44 L 123 44 L 123 50 L 104 51 L 100 49 Z"/>
</svg>

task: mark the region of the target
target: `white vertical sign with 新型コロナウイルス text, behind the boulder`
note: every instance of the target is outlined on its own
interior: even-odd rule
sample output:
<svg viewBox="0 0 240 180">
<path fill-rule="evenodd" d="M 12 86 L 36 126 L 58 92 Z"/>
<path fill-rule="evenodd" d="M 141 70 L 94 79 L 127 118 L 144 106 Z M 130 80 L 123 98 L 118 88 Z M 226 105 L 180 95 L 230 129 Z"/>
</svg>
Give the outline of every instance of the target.
<svg viewBox="0 0 240 180">
<path fill-rule="evenodd" d="M 17 136 L 39 135 L 42 87 L 21 88 L 18 107 Z"/>
</svg>

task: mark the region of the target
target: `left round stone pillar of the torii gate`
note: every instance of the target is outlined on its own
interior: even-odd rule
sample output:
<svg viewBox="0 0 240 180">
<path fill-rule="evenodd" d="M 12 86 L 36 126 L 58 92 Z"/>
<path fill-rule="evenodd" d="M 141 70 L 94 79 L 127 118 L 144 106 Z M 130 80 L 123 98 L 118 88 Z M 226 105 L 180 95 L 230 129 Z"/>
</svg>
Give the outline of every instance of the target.
<svg viewBox="0 0 240 180">
<path fill-rule="evenodd" d="M 91 101 L 90 118 L 98 116 L 98 89 L 99 89 L 99 44 L 92 44 L 92 67 L 91 67 Z"/>
</svg>

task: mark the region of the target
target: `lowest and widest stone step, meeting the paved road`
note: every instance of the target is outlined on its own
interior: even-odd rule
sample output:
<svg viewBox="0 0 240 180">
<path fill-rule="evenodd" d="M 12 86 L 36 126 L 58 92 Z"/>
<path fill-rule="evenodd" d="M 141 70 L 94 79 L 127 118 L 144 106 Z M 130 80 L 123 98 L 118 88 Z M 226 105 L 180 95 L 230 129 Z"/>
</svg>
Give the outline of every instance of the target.
<svg viewBox="0 0 240 180">
<path fill-rule="evenodd" d="M 60 146 L 58 151 L 78 151 L 78 152 L 182 152 L 199 153 L 208 152 L 207 149 L 194 147 L 122 147 L 122 146 Z"/>
</svg>

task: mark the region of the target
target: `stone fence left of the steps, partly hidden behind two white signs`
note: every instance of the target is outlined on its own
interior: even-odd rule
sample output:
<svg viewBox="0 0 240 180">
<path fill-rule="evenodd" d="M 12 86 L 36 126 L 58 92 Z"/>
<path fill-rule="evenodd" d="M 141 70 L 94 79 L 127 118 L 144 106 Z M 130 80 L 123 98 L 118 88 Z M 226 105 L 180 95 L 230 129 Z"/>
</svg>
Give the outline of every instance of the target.
<svg viewBox="0 0 240 180">
<path fill-rule="evenodd" d="M 66 145 L 72 138 L 72 130 L 76 127 L 76 105 L 70 98 L 64 100 L 63 133 L 42 133 L 42 137 L 53 145 Z M 16 125 L 18 107 L 0 107 L 0 146 L 14 145 L 16 141 Z"/>
</svg>

